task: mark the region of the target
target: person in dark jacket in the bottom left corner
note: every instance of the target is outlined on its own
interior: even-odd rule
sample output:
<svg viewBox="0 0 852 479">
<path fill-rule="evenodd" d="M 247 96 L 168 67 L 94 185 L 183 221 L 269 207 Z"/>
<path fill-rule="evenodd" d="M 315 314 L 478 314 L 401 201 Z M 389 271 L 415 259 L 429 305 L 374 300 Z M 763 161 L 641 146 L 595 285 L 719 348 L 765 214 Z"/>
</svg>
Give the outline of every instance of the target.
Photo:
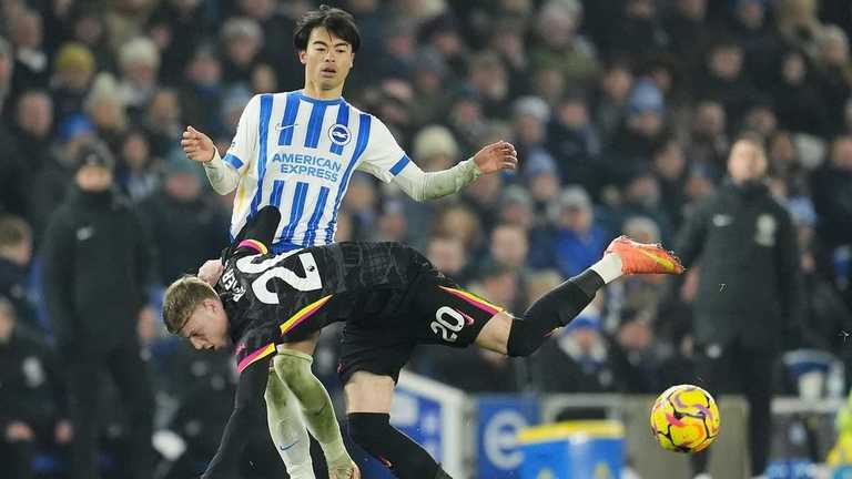
<svg viewBox="0 0 852 479">
<path fill-rule="evenodd" d="M 18 324 L 12 304 L 0 297 L 0 462 L 9 477 L 36 477 L 36 455 L 61 460 L 73 437 L 59 366 L 47 343 Z"/>
</svg>

